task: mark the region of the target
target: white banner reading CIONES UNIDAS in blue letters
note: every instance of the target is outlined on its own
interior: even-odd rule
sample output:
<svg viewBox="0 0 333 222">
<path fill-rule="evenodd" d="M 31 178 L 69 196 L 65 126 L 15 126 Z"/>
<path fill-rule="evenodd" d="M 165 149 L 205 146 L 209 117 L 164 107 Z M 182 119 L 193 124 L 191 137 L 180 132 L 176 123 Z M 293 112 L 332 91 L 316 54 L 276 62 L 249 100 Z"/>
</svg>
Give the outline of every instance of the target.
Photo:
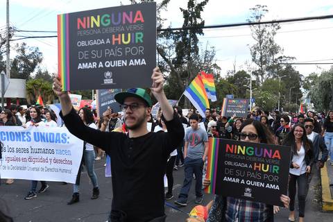
<svg viewBox="0 0 333 222">
<path fill-rule="evenodd" d="M 75 183 L 83 141 L 67 128 L 1 126 L 1 178 Z"/>
</svg>

